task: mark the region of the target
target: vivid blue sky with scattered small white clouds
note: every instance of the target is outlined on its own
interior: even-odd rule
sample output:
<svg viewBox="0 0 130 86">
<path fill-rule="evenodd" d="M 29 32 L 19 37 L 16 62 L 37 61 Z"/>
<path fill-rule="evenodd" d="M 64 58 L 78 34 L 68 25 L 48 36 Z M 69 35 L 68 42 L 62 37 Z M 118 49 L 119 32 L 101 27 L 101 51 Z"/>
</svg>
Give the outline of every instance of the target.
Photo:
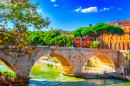
<svg viewBox="0 0 130 86">
<path fill-rule="evenodd" d="M 38 12 L 49 17 L 48 29 L 72 31 L 89 24 L 130 18 L 129 0 L 31 0 L 39 2 Z"/>
</svg>

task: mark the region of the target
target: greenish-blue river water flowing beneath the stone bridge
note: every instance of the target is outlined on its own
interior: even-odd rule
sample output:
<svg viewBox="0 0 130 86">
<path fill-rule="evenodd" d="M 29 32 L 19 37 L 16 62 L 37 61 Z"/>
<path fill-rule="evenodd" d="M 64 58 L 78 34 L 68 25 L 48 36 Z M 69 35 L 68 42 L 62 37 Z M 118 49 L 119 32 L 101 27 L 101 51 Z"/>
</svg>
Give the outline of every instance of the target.
<svg viewBox="0 0 130 86">
<path fill-rule="evenodd" d="M 0 70 L 8 70 L 0 63 Z M 62 75 L 60 67 L 35 64 L 30 72 L 29 83 L 18 86 L 130 86 L 130 82 L 116 79 L 82 79 Z"/>
</svg>

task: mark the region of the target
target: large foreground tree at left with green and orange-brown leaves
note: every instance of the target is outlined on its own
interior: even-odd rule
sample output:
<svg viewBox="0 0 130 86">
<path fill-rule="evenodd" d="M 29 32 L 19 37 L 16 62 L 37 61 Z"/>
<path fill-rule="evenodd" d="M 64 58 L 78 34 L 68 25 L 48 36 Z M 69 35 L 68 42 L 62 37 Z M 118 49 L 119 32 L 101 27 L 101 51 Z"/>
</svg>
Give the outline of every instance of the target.
<svg viewBox="0 0 130 86">
<path fill-rule="evenodd" d="M 31 55 L 35 48 L 28 47 L 25 34 L 28 28 L 41 30 L 48 27 L 50 21 L 37 13 L 38 3 L 32 4 L 29 0 L 8 0 L 0 8 L 2 25 L 0 26 L 0 50 L 6 55 L 9 52 L 18 53 L 18 57 Z M 8 26 L 9 25 L 9 26 Z M 13 27 L 11 27 L 13 26 Z M 12 45 L 11 49 L 9 45 Z"/>
</svg>

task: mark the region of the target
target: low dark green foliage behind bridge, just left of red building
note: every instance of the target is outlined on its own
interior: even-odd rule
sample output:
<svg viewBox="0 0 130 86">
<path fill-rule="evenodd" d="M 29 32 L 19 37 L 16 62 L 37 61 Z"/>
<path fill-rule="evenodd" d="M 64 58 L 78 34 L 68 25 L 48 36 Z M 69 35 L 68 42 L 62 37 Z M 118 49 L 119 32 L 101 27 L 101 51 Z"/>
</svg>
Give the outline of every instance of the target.
<svg viewBox="0 0 130 86">
<path fill-rule="evenodd" d="M 72 40 L 70 36 L 57 36 L 53 39 L 55 45 L 64 46 L 65 42 L 66 47 L 72 46 Z"/>
</svg>

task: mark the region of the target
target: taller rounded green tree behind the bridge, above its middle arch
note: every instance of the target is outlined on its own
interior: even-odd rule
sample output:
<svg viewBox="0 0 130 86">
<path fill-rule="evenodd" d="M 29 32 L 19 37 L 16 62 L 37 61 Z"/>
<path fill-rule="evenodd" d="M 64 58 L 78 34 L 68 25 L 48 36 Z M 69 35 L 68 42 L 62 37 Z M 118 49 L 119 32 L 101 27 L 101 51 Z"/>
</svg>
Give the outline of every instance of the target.
<svg viewBox="0 0 130 86">
<path fill-rule="evenodd" d="M 51 30 L 51 31 L 47 31 L 45 32 L 45 37 L 44 37 L 44 42 L 48 45 L 54 45 L 54 41 L 53 38 L 60 36 L 60 32 L 57 30 Z"/>
</svg>

